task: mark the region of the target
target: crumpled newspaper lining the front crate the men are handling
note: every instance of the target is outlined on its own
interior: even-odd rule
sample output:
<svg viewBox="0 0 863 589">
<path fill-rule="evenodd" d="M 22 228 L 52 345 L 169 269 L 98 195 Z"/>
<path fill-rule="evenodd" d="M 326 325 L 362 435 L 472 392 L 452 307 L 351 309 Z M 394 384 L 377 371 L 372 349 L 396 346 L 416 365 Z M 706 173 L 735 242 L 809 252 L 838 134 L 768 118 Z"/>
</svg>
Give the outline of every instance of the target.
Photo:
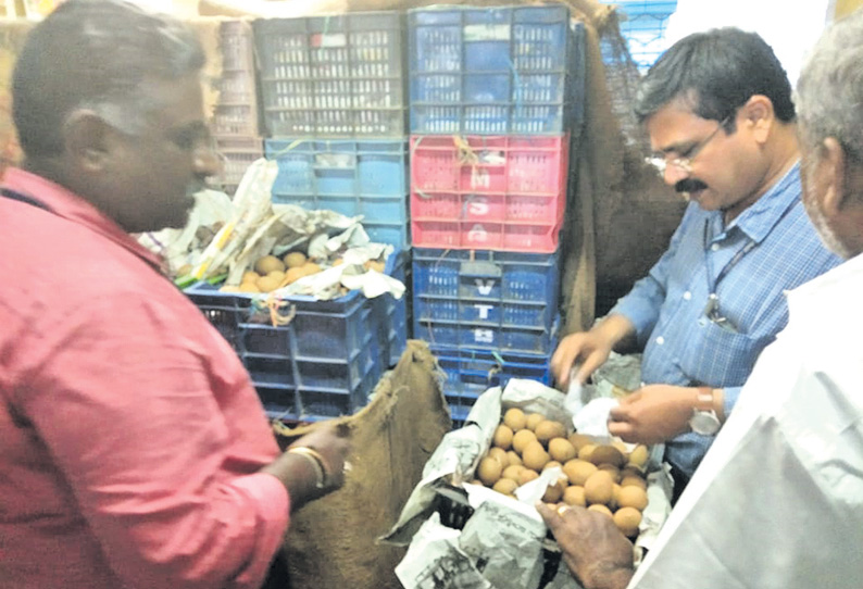
<svg viewBox="0 0 863 589">
<path fill-rule="evenodd" d="M 542 413 L 566 423 L 572 415 L 560 391 L 541 383 L 511 379 L 505 390 L 488 389 L 479 396 L 465 427 L 443 437 L 423 469 L 423 476 L 402 509 L 399 521 L 382 540 L 403 546 L 408 553 L 396 574 L 407 589 L 495 588 L 534 589 L 543 573 L 546 526 L 534 507 L 549 484 L 561 474 L 549 468 L 540 478 L 516 489 L 517 501 L 483 486 L 464 483 L 487 453 L 503 408 Z M 554 472 L 558 471 L 558 472 Z M 437 489 L 448 480 L 463 489 L 473 507 L 464 527 L 445 525 L 435 511 Z M 655 539 L 671 512 L 671 477 L 664 465 L 651 463 L 648 474 L 650 503 L 642 514 L 634 547 L 636 563 Z M 476 519 L 476 521 L 475 521 Z M 579 589 L 564 564 L 546 589 Z"/>
</svg>

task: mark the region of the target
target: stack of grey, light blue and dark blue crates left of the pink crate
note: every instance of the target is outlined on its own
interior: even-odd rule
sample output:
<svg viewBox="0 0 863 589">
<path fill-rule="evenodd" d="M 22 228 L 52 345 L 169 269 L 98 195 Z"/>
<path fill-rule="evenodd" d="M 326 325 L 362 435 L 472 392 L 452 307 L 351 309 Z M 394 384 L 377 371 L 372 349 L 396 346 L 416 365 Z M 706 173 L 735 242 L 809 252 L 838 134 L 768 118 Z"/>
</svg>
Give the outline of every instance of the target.
<svg viewBox="0 0 863 589">
<path fill-rule="evenodd" d="M 404 21 L 396 12 L 257 20 L 265 139 L 275 160 L 273 202 L 363 215 L 373 241 L 396 251 L 386 273 L 409 264 Z M 248 165 L 248 164 L 247 164 Z M 398 361 L 409 331 L 404 298 L 332 301 L 288 297 L 291 321 L 254 321 L 252 297 L 208 285 L 189 297 L 232 342 L 273 417 L 315 421 L 362 408 Z"/>
</svg>

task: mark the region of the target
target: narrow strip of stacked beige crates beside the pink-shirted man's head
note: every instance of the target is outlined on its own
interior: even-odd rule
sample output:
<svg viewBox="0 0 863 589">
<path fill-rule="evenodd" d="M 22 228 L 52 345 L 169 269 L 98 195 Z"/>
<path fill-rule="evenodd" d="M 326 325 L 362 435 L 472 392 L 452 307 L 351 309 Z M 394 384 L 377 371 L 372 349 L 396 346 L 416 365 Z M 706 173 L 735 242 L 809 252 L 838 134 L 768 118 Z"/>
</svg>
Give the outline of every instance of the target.
<svg viewBox="0 0 863 589">
<path fill-rule="evenodd" d="M 222 77 L 216 85 L 218 102 L 212 127 L 222 156 L 222 172 L 211 184 L 233 196 L 249 164 L 263 156 L 251 24 L 223 22 L 220 48 Z"/>
</svg>

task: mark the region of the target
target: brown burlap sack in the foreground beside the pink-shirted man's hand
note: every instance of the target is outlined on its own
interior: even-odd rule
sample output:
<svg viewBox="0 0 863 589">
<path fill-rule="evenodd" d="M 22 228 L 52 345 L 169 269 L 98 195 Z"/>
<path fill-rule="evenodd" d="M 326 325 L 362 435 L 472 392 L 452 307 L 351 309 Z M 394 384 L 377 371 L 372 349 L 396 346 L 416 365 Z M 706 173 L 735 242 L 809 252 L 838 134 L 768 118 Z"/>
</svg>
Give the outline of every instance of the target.
<svg viewBox="0 0 863 589">
<path fill-rule="evenodd" d="M 404 548 L 378 544 L 420 481 L 423 466 L 450 430 L 439 373 L 428 346 L 409 340 L 372 402 L 341 421 L 353 453 L 345 487 L 291 517 L 285 551 L 290 589 L 399 589 L 393 573 Z M 312 426 L 278 434 L 287 447 Z"/>
</svg>

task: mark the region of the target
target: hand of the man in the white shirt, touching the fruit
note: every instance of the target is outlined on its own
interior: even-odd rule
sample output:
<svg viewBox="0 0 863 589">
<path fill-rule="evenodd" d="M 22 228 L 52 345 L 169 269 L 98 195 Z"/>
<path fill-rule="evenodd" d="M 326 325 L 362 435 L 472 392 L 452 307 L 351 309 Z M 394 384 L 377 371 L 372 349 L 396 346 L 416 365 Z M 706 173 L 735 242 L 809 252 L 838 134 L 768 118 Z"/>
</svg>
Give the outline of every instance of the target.
<svg viewBox="0 0 863 589">
<path fill-rule="evenodd" d="M 624 589 L 633 577 L 633 544 L 608 515 L 584 507 L 537 503 L 563 552 L 563 562 L 585 589 Z"/>
</svg>

